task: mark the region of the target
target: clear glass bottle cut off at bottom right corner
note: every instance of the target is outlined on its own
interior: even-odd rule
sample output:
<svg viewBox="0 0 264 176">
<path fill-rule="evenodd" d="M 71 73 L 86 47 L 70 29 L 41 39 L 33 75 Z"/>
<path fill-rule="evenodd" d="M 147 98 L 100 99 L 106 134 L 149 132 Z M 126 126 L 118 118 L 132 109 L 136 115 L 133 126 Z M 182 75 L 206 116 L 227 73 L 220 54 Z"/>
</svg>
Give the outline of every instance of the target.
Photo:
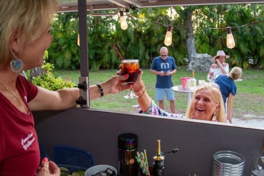
<svg viewBox="0 0 264 176">
<path fill-rule="evenodd" d="M 254 156 L 251 163 L 251 176 L 263 176 L 263 175 L 264 175 L 264 139 L 262 145 L 262 153 Z"/>
</svg>

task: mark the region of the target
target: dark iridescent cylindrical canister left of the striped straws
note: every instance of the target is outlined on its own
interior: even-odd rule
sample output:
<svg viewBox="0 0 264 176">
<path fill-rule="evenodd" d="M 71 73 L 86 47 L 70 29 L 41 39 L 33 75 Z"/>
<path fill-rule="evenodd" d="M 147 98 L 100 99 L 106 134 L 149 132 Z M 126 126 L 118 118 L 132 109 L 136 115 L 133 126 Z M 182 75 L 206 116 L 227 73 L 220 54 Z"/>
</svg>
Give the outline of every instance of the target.
<svg viewBox="0 0 264 176">
<path fill-rule="evenodd" d="M 118 136 L 118 175 L 137 176 L 138 164 L 135 161 L 138 151 L 138 136 L 124 133 Z"/>
</svg>

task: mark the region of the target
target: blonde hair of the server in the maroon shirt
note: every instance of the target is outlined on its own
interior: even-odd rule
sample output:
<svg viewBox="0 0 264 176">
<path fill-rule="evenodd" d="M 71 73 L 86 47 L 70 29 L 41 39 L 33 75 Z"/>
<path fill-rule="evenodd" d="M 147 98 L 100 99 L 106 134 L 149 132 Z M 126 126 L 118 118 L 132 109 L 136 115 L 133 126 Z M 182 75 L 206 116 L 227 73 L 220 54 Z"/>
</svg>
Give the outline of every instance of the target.
<svg viewBox="0 0 264 176">
<path fill-rule="evenodd" d="M 48 28 L 53 13 L 57 11 L 56 0 L 0 0 L 0 64 L 11 55 L 12 31 L 19 30 L 21 42 L 34 41 Z"/>
</svg>

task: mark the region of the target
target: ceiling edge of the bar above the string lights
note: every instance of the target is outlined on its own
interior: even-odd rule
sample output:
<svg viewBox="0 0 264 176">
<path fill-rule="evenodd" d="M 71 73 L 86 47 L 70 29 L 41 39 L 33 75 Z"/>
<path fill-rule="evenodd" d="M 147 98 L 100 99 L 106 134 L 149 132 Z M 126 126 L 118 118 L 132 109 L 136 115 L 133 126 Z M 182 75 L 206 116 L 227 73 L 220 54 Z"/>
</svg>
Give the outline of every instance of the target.
<svg viewBox="0 0 264 176">
<path fill-rule="evenodd" d="M 60 12 L 77 11 L 77 0 L 58 0 L 60 4 Z M 130 8 L 135 6 L 138 8 L 146 7 L 166 7 L 166 6 L 191 6 L 191 5 L 209 5 L 209 4 L 242 4 L 242 3 L 264 3 L 264 0 L 87 0 L 87 10 L 90 9 L 116 9 Z"/>
</svg>

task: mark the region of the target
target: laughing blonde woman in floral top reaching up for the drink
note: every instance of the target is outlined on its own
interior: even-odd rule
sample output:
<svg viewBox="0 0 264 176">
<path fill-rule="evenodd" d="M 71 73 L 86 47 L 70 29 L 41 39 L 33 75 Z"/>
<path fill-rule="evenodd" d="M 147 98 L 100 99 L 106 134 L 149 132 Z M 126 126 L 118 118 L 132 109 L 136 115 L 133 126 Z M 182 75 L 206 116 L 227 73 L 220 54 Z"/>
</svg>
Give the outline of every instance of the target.
<svg viewBox="0 0 264 176">
<path fill-rule="evenodd" d="M 140 70 L 138 80 L 134 84 L 134 92 L 141 110 L 139 113 L 166 116 L 169 118 L 183 118 L 180 114 L 168 113 L 162 110 L 148 95 Z M 117 73 L 119 74 L 119 72 Z M 219 90 L 219 85 L 215 83 L 204 83 L 197 86 L 194 96 L 186 112 L 186 117 L 191 119 L 226 122 L 224 104 Z"/>
</svg>

